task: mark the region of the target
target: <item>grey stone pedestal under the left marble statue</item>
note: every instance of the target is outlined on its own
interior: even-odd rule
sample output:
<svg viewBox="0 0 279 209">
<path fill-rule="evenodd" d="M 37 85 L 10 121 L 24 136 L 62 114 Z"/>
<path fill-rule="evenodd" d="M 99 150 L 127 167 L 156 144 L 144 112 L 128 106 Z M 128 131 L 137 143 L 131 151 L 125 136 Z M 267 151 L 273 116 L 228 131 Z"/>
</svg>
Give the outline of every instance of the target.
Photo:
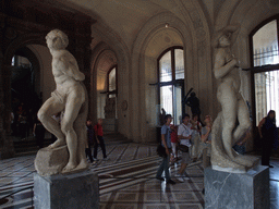
<svg viewBox="0 0 279 209">
<path fill-rule="evenodd" d="M 35 209 L 98 209 L 97 173 L 85 171 L 68 175 L 34 174 Z"/>
</svg>

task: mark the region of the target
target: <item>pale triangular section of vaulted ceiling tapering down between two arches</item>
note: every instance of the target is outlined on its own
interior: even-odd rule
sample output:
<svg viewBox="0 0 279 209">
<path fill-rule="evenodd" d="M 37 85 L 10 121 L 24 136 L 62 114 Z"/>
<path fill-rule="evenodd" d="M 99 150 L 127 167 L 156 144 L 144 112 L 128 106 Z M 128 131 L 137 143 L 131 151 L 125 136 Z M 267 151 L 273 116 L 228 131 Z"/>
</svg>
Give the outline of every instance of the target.
<svg viewBox="0 0 279 209">
<path fill-rule="evenodd" d="M 171 11 L 172 0 L 68 0 L 114 30 L 129 46 L 151 16 Z M 70 5 L 68 3 L 68 5 Z"/>
</svg>

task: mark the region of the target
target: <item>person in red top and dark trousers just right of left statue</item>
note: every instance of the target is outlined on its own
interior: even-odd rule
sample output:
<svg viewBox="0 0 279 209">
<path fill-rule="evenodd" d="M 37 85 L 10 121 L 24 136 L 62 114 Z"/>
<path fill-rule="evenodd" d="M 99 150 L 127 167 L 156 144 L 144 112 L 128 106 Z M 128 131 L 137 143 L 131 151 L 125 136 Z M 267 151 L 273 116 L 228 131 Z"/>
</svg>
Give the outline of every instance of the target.
<svg viewBox="0 0 279 209">
<path fill-rule="evenodd" d="M 96 139 L 97 143 L 94 145 L 94 160 L 97 160 L 97 152 L 98 152 L 98 147 L 100 146 L 101 151 L 102 151 L 102 157 L 104 160 L 107 159 L 107 153 L 106 153 L 106 147 L 104 143 L 104 133 L 102 133 L 102 119 L 98 119 L 98 123 L 94 126 L 95 133 L 96 133 Z"/>
</svg>

